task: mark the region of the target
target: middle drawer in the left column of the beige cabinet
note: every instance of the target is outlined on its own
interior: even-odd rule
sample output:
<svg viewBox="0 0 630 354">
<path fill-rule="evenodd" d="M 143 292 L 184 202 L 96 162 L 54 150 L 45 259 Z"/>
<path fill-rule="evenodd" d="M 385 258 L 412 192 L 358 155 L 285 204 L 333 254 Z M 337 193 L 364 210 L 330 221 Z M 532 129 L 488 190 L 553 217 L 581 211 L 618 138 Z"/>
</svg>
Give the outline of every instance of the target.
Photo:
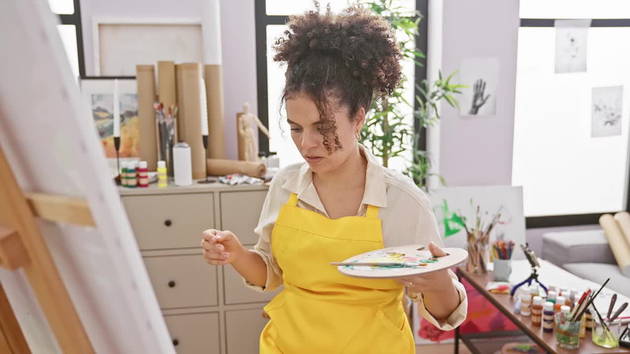
<svg viewBox="0 0 630 354">
<path fill-rule="evenodd" d="M 163 309 L 217 305 L 217 267 L 190 256 L 145 257 L 157 302 Z"/>
</svg>

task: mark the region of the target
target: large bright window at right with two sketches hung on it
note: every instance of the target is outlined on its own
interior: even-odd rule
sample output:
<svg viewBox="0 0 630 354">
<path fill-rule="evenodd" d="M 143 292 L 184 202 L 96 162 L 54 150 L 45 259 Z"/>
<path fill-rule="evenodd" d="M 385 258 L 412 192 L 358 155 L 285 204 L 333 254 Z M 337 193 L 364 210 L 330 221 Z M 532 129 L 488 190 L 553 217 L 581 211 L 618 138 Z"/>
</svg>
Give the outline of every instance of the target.
<svg viewBox="0 0 630 354">
<path fill-rule="evenodd" d="M 630 20 L 618 16 L 630 18 L 630 4 L 604 3 L 520 2 L 512 184 L 523 186 L 527 227 L 597 224 L 627 208 Z M 555 20 L 595 15 L 586 71 L 556 73 Z M 621 129 L 601 136 L 597 88 L 618 86 Z"/>
</svg>

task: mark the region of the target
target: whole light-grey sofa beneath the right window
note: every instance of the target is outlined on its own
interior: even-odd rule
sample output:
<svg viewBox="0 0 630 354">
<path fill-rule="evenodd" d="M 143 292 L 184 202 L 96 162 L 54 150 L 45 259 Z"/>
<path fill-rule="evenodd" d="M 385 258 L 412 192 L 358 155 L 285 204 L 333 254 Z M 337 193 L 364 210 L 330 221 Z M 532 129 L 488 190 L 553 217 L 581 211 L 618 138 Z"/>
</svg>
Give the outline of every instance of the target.
<svg viewBox="0 0 630 354">
<path fill-rule="evenodd" d="M 541 258 L 595 283 L 610 278 L 607 288 L 630 297 L 630 278 L 619 270 L 602 229 L 546 232 Z"/>
</svg>

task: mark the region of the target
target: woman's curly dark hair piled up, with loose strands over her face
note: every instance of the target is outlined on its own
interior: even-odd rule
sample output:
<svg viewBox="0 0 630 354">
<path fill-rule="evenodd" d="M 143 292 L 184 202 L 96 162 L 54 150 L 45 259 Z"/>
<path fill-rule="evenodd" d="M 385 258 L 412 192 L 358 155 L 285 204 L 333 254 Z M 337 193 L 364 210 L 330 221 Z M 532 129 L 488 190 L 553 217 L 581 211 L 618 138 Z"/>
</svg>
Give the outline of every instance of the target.
<svg viewBox="0 0 630 354">
<path fill-rule="evenodd" d="M 353 119 L 360 107 L 370 109 L 374 95 L 389 96 L 401 79 L 403 55 L 389 22 L 355 5 L 331 13 L 316 11 L 290 16 L 289 30 L 273 45 L 273 60 L 287 63 L 281 103 L 294 94 L 307 94 L 321 117 L 319 132 L 331 154 L 342 149 L 336 134 L 335 108 L 347 107 Z M 334 140 L 334 146 L 331 141 Z"/>
</svg>

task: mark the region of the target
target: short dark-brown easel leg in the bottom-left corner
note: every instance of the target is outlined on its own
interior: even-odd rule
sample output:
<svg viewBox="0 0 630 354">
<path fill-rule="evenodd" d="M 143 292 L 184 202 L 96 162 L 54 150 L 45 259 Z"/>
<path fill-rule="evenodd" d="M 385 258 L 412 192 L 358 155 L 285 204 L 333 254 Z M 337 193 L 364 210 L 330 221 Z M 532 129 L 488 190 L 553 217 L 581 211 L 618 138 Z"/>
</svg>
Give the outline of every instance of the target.
<svg viewBox="0 0 630 354">
<path fill-rule="evenodd" d="M 30 354 L 20 324 L 0 283 L 0 353 Z"/>
</svg>

